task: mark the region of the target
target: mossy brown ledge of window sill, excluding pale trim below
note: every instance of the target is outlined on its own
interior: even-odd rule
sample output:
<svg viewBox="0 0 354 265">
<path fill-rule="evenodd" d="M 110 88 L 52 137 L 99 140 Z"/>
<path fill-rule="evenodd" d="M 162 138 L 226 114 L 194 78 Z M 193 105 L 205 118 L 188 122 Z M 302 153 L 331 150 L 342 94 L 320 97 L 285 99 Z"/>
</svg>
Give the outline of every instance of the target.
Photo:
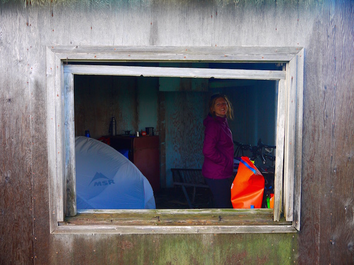
<svg viewBox="0 0 354 265">
<path fill-rule="evenodd" d="M 115 225 L 119 226 L 288 226 L 291 222 L 273 221 L 273 211 L 271 209 L 237 209 L 224 210 L 220 213 L 217 209 L 198 210 L 108 210 L 101 213 L 100 210 L 83 210 L 76 217 L 67 217 L 61 226 L 88 226 L 90 224 Z M 108 227 L 107 227 L 108 228 Z M 64 228 L 63 228 L 64 229 Z M 70 228 L 68 228 L 70 229 Z M 83 228 L 78 228 L 83 230 Z M 188 230 L 189 228 L 187 228 Z M 222 229 L 222 228 L 219 228 Z"/>
</svg>

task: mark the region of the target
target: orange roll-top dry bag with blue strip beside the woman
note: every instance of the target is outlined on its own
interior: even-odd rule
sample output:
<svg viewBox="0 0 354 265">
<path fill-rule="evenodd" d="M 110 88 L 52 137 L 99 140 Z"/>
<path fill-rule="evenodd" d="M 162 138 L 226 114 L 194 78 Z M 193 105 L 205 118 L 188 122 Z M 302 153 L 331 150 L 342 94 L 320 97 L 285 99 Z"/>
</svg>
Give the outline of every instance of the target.
<svg viewBox="0 0 354 265">
<path fill-rule="evenodd" d="M 231 185 L 231 202 L 234 208 L 260 208 L 264 191 L 264 177 L 250 161 L 242 156 L 236 177 Z"/>
</svg>

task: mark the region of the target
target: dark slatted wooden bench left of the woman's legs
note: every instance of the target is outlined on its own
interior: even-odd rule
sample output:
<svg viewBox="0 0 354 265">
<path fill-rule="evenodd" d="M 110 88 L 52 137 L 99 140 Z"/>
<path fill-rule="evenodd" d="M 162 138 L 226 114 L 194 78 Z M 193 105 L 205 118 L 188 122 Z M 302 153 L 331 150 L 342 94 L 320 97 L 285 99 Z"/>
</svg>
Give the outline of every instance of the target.
<svg viewBox="0 0 354 265">
<path fill-rule="evenodd" d="M 181 186 L 190 208 L 194 208 L 196 188 L 207 188 L 201 169 L 171 169 L 173 185 Z M 186 187 L 193 187 L 192 200 Z"/>
</svg>

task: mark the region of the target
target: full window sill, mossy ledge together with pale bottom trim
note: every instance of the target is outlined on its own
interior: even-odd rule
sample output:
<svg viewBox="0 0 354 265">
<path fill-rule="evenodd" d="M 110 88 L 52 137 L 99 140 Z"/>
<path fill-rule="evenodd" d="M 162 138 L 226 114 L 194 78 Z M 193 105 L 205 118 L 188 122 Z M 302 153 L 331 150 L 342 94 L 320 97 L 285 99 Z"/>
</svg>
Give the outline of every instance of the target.
<svg viewBox="0 0 354 265">
<path fill-rule="evenodd" d="M 59 222 L 54 234 L 296 233 L 273 221 L 272 209 L 84 210 Z"/>
</svg>

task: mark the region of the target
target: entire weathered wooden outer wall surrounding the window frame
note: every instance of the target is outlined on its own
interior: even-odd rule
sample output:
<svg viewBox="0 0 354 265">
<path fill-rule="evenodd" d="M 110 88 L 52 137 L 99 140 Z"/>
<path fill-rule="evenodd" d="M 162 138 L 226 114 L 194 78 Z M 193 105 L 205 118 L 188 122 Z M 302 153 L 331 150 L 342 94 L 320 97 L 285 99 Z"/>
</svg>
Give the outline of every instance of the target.
<svg viewBox="0 0 354 265">
<path fill-rule="evenodd" d="M 353 263 L 353 28 L 350 0 L 3 0 L 0 263 Z M 50 234 L 45 51 L 57 44 L 304 47 L 301 231 Z"/>
</svg>

